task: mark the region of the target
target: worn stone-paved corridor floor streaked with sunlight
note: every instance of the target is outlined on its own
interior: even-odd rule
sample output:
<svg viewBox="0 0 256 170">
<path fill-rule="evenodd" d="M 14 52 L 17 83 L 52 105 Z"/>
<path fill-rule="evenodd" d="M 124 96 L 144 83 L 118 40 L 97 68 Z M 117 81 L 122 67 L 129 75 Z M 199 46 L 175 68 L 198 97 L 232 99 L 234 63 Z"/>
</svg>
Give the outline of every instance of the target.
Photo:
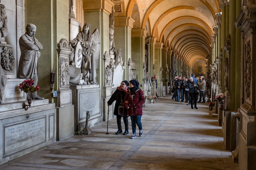
<svg viewBox="0 0 256 170">
<path fill-rule="evenodd" d="M 236 170 L 208 103 L 192 110 L 170 95 L 143 108 L 143 136 L 115 135 L 116 119 L 0 165 L 1 170 Z M 123 122 L 122 122 L 123 123 Z M 122 125 L 124 127 L 124 123 Z M 124 131 L 124 128 L 123 128 Z M 137 129 L 138 135 L 138 129 Z"/>
</svg>

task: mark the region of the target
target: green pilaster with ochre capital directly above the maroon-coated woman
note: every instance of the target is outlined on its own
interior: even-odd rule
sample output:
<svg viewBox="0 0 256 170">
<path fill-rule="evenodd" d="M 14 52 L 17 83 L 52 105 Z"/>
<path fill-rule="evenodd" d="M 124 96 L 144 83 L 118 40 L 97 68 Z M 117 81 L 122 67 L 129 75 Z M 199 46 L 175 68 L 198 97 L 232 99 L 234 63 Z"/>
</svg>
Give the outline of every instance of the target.
<svg viewBox="0 0 256 170">
<path fill-rule="evenodd" d="M 135 62 L 140 84 L 143 84 L 143 62 L 145 62 L 145 29 L 131 29 L 131 59 Z M 150 75 L 152 76 L 152 75 Z"/>
</svg>

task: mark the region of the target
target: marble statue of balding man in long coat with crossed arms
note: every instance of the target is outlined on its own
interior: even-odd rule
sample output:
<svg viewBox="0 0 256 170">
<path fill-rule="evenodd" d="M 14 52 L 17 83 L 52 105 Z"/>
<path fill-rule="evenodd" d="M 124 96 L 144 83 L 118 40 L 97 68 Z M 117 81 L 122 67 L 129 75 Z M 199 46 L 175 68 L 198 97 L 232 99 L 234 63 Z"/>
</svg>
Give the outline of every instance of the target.
<svg viewBox="0 0 256 170">
<path fill-rule="evenodd" d="M 38 58 L 39 50 L 43 49 L 43 45 L 34 37 L 36 26 L 27 24 L 26 33 L 21 36 L 19 43 L 21 48 L 21 59 L 19 63 L 17 78 L 26 78 L 34 80 L 34 87 L 38 82 Z M 44 99 L 39 97 L 37 93 L 32 93 L 32 99 Z"/>
</svg>

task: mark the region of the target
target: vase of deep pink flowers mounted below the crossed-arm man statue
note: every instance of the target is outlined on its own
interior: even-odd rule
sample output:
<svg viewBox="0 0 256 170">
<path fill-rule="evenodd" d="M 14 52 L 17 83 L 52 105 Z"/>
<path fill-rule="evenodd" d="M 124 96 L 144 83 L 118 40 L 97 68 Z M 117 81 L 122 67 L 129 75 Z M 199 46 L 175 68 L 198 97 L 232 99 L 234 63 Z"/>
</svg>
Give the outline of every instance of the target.
<svg viewBox="0 0 256 170">
<path fill-rule="evenodd" d="M 31 95 L 32 95 L 32 93 L 35 93 L 36 91 L 40 90 L 40 88 L 38 86 L 34 87 L 33 85 L 34 85 L 34 80 L 27 79 L 27 80 L 24 80 L 19 86 L 19 89 L 21 89 L 21 91 L 24 91 L 25 93 L 27 93 L 27 103 L 28 103 L 28 105 L 26 105 L 25 103 L 23 103 L 23 105 L 22 105 L 22 107 L 25 110 L 28 109 L 28 106 L 29 107 L 31 106 L 31 103 L 32 103 Z"/>
</svg>

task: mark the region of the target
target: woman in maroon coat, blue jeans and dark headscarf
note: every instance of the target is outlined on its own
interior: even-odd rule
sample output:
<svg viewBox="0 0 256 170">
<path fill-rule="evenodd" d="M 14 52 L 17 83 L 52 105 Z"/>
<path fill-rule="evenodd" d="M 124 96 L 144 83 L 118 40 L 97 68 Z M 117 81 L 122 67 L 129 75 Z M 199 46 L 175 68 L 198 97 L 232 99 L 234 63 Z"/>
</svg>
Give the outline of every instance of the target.
<svg viewBox="0 0 256 170">
<path fill-rule="evenodd" d="M 136 138 L 136 124 L 139 127 L 139 136 L 143 135 L 142 124 L 140 122 L 142 115 L 142 105 L 145 102 L 143 91 L 139 88 L 139 82 L 131 80 L 130 88 L 127 91 L 124 99 L 124 105 L 127 109 L 127 114 L 131 117 L 132 135 L 131 138 Z"/>
</svg>

